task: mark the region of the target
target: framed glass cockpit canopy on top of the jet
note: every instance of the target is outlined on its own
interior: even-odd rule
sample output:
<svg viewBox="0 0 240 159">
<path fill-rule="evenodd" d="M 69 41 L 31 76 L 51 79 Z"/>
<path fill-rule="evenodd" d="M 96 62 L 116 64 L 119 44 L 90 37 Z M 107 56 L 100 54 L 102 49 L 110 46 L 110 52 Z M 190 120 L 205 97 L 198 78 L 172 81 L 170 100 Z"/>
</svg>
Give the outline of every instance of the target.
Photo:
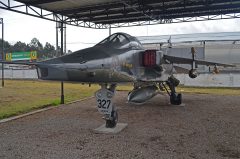
<svg viewBox="0 0 240 159">
<path fill-rule="evenodd" d="M 129 47 L 134 49 L 143 49 L 142 44 L 135 37 L 132 37 L 126 33 L 112 34 L 97 45 L 119 49 Z"/>
</svg>

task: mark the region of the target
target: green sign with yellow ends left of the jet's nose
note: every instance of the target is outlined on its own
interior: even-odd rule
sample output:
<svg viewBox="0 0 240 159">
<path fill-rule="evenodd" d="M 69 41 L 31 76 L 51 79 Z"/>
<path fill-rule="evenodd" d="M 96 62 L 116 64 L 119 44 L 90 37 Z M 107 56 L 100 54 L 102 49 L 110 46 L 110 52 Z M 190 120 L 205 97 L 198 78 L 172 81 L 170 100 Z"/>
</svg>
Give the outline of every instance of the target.
<svg viewBox="0 0 240 159">
<path fill-rule="evenodd" d="M 36 60 L 37 52 L 12 52 L 6 53 L 6 61 Z"/>
</svg>

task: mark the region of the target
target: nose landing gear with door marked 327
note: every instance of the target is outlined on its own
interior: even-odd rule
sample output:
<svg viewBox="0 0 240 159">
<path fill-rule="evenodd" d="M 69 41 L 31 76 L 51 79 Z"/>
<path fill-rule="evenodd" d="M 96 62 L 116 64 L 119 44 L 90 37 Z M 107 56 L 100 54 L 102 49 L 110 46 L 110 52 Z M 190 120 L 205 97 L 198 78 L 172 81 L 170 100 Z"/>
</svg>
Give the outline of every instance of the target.
<svg viewBox="0 0 240 159">
<path fill-rule="evenodd" d="M 113 97 L 115 95 L 116 84 L 101 85 L 101 89 L 95 93 L 98 111 L 104 115 L 106 128 L 114 128 L 118 122 L 118 113 L 113 106 Z"/>
</svg>

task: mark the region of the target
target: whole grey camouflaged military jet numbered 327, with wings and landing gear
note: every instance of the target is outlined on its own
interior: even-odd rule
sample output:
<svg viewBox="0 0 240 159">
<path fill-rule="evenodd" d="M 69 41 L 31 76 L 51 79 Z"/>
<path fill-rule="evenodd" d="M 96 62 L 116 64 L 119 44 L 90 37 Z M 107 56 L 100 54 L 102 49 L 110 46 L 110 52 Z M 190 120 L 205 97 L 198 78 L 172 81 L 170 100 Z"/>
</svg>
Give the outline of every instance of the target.
<svg viewBox="0 0 240 159">
<path fill-rule="evenodd" d="M 213 65 L 216 70 L 217 66 L 232 66 L 198 60 L 194 48 L 191 50 L 191 59 L 170 56 L 167 52 L 145 50 L 133 36 L 115 33 L 93 47 L 72 54 L 36 63 L 14 63 L 37 66 L 38 77 L 42 80 L 99 84 L 101 89 L 95 93 L 97 108 L 104 115 L 106 127 L 113 128 L 118 120 L 116 105 L 112 100 L 117 84 L 134 84 L 128 94 L 128 102 L 144 103 L 157 95 L 159 89 L 164 89 L 170 96 L 170 103 L 180 105 L 182 96 L 175 90 L 179 80 L 173 76 L 175 63 L 190 64 L 191 78 L 198 75 L 197 65 Z"/>
</svg>

